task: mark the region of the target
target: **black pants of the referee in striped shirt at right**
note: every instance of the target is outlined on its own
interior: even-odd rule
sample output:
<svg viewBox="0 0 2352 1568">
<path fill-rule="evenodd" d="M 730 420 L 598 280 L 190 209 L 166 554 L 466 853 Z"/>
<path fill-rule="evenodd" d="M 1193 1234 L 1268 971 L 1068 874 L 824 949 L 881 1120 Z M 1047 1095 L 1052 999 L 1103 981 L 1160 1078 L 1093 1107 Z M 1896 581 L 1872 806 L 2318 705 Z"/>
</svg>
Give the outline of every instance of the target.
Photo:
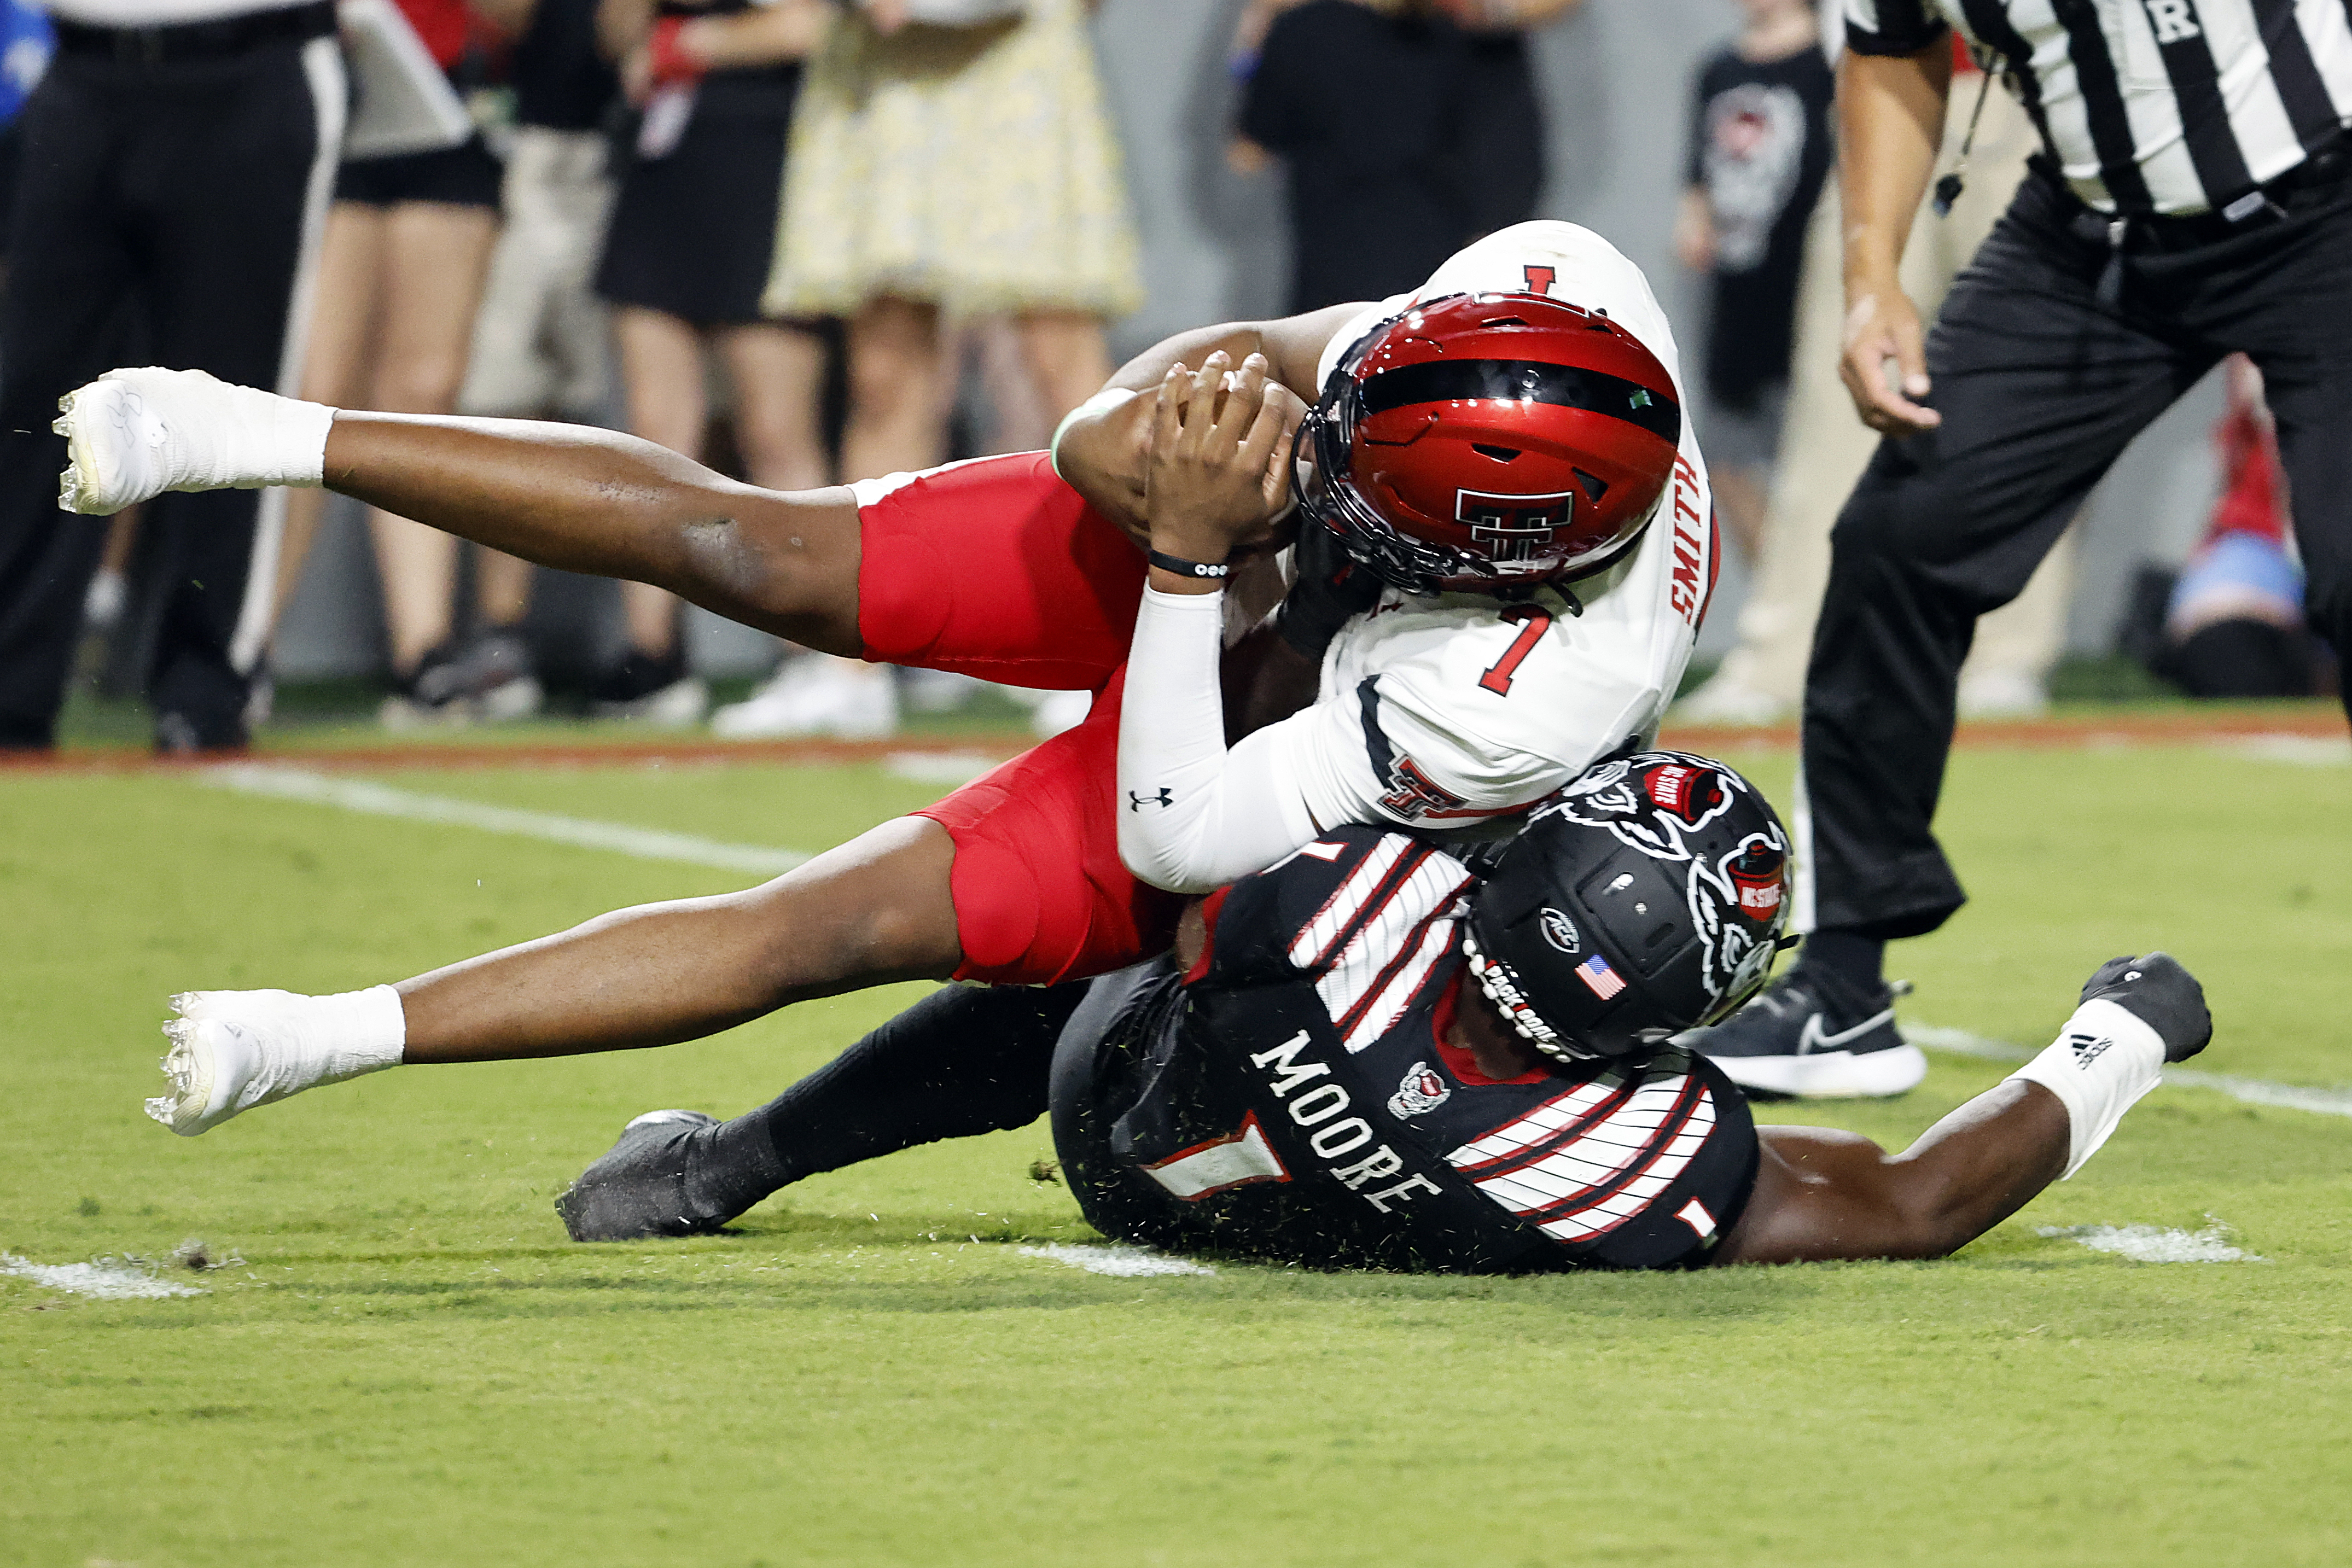
<svg viewBox="0 0 2352 1568">
<path fill-rule="evenodd" d="M 2223 355 L 2279 425 L 2312 630 L 2352 654 L 2352 179 L 2265 214 L 2126 228 L 2037 169 L 1926 343 L 1936 430 L 1886 440 L 1832 531 L 1804 686 L 1813 929 L 1919 936 L 1966 898 L 1929 823 L 1976 618 L 2013 599 L 2082 498 Z M 2352 693 L 2347 693 L 2352 703 Z"/>
</svg>

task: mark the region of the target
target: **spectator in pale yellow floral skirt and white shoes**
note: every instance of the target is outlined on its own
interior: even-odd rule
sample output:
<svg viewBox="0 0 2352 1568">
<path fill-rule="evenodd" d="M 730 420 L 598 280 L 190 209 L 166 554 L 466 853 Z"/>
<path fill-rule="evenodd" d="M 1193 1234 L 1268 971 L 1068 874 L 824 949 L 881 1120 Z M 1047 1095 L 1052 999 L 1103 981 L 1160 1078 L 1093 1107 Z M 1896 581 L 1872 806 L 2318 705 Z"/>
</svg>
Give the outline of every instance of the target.
<svg viewBox="0 0 2352 1568">
<path fill-rule="evenodd" d="M 953 26 L 950 26 L 953 24 Z M 1141 256 L 1080 0 L 861 0 L 809 63 L 767 308 L 849 317 L 842 477 L 946 461 L 943 317 L 1016 322 L 1044 416 L 1110 378 Z M 875 733 L 891 672 L 793 661 L 727 733 Z"/>
</svg>

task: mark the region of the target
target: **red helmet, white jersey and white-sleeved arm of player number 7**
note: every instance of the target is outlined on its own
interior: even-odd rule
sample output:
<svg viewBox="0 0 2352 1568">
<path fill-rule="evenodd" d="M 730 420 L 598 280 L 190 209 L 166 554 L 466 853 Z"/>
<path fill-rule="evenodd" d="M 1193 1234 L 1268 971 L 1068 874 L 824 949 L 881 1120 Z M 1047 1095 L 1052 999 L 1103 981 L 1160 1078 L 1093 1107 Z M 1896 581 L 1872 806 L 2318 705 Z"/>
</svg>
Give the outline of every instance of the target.
<svg viewBox="0 0 2352 1568">
<path fill-rule="evenodd" d="M 1573 223 L 1519 223 L 1317 353 L 1301 552 L 1369 574 L 1336 628 L 1305 571 L 1289 644 L 1315 701 L 1225 748 L 1225 557 L 1263 522 L 1242 418 L 1169 371 L 1155 414 L 1120 733 L 1120 849 L 1207 891 L 1338 823 L 1475 827 L 1646 745 L 1715 581 L 1705 461 L 1642 270 Z M 1183 407 L 1183 414 L 1178 414 Z M 1301 635 L 1305 630 L 1305 635 Z M 1329 646 L 1317 646 L 1327 635 Z"/>
</svg>

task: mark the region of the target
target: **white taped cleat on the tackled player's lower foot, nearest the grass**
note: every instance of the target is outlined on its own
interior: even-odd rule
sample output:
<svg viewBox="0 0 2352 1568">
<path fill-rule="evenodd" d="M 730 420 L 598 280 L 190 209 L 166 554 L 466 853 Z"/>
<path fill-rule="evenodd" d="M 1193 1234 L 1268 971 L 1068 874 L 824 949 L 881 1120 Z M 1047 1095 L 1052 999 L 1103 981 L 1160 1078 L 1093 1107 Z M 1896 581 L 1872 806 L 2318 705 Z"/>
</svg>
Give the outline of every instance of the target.
<svg viewBox="0 0 2352 1568">
<path fill-rule="evenodd" d="M 181 992 L 172 1011 L 179 1018 L 162 1025 L 172 1041 L 162 1058 L 172 1093 L 148 1100 L 146 1112 L 181 1138 L 400 1060 L 400 1046 L 386 1044 L 400 1037 L 400 999 L 388 985 L 339 997 Z"/>
</svg>

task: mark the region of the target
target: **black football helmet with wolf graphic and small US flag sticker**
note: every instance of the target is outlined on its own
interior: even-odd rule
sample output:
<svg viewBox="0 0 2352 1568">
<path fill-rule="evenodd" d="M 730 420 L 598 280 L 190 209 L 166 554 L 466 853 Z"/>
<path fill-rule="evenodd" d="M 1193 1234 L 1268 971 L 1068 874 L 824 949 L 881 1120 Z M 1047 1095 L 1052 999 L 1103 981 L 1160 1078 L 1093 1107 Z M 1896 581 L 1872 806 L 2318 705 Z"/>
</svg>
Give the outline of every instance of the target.
<svg viewBox="0 0 2352 1568">
<path fill-rule="evenodd" d="M 1748 1001 L 1788 926 L 1788 835 L 1686 752 L 1597 762 L 1470 898 L 1465 959 L 1552 1058 L 1649 1056 Z"/>
</svg>

